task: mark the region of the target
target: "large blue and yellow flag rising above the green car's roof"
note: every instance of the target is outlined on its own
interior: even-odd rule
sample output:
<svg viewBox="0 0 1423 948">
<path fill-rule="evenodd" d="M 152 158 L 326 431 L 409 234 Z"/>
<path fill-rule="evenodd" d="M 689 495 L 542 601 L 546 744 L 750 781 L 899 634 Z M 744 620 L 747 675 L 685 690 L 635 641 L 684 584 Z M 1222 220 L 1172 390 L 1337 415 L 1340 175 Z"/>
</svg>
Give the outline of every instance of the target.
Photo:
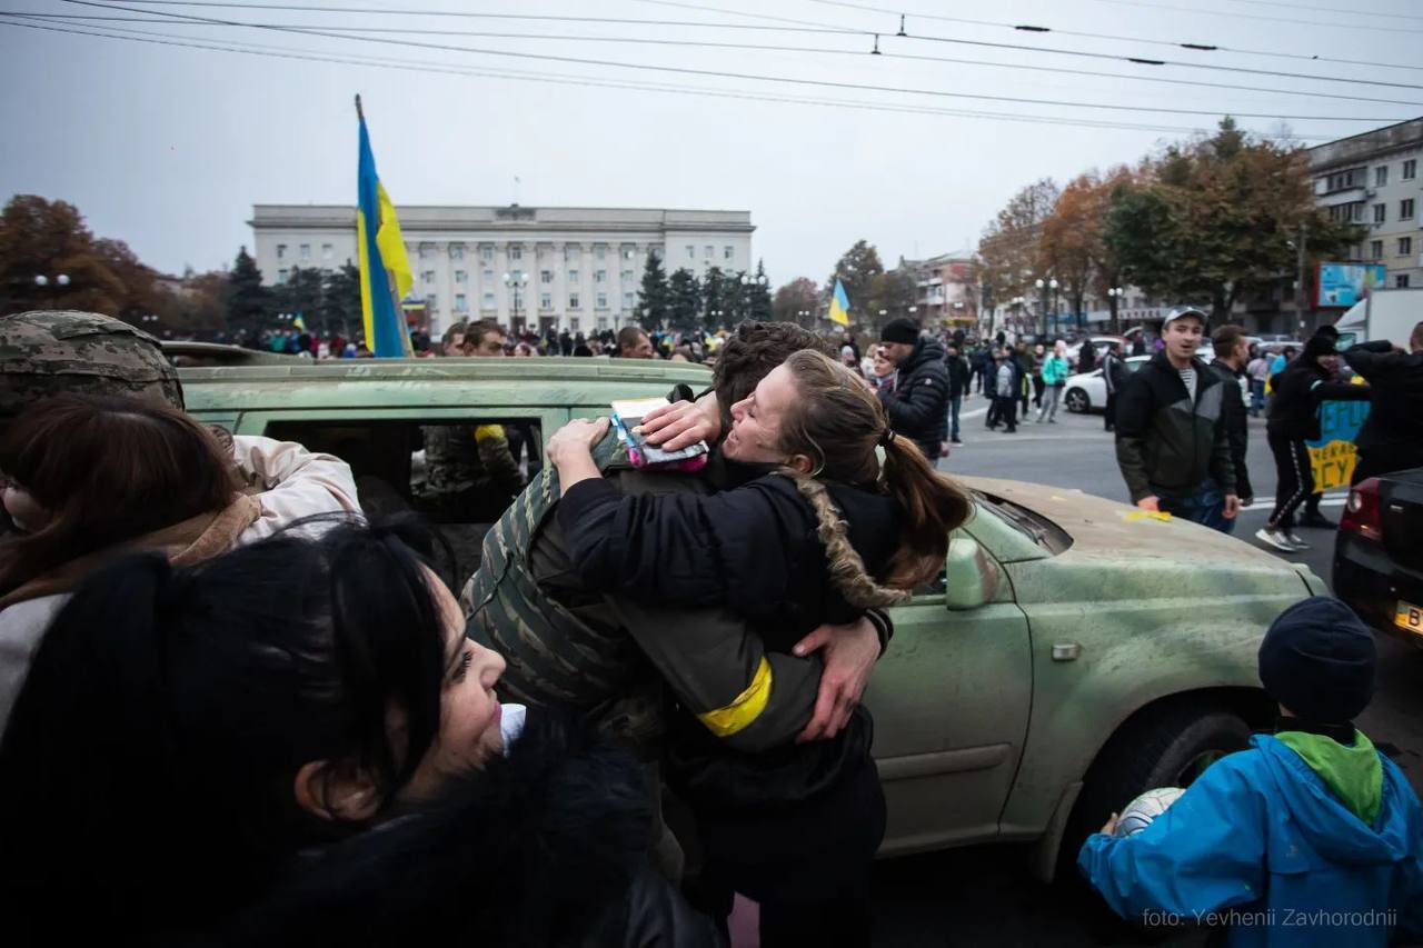
<svg viewBox="0 0 1423 948">
<path fill-rule="evenodd" d="M 414 275 L 400 236 L 396 205 L 376 174 L 376 155 L 366 132 L 366 115 L 356 97 L 360 118 L 360 168 L 356 177 L 356 243 L 360 249 L 360 312 L 366 325 L 366 346 L 376 357 L 410 356 L 410 333 L 400 307 Z"/>
</svg>

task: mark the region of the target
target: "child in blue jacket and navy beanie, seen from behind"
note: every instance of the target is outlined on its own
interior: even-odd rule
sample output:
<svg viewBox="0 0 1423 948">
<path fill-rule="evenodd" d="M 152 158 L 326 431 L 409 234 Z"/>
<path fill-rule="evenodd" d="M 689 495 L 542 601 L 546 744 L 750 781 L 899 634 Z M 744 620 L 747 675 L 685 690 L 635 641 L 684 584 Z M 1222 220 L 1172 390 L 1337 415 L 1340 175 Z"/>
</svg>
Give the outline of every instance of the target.
<svg viewBox="0 0 1423 948">
<path fill-rule="evenodd" d="M 1170 344 L 1170 343 L 1167 343 Z M 1077 868 L 1123 918 L 1225 927 L 1231 945 L 1386 945 L 1423 937 L 1423 806 L 1353 719 L 1373 633 L 1338 599 L 1285 609 L 1259 648 L 1272 734 L 1211 764 L 1165 813 Z"/>
</svg>

